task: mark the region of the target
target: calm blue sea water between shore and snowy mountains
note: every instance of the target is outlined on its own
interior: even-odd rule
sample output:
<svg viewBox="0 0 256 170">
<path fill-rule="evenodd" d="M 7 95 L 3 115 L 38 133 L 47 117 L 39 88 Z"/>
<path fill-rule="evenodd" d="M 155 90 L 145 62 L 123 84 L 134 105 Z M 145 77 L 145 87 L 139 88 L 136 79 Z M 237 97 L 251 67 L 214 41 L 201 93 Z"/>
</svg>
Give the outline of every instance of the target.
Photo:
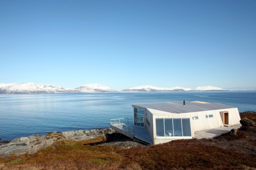
<svg viewBox="0 0 256 170">
<path fill-rule="evenodd" d="M 0 138 L 110 127 L 111 118 L 132 118 L 131 104 L 218 102 L 239 112 L 256 111 L 256 91 L 0 95 Z"/>
</svg>

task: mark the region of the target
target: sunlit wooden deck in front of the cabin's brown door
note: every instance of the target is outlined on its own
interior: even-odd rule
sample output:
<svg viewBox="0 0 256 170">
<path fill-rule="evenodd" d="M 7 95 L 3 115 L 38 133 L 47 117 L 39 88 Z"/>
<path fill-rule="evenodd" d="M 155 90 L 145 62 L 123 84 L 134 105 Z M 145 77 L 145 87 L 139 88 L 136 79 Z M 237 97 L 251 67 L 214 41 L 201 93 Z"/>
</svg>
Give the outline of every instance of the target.
<svg viewBox="0 0 256 170">
<path fill-rule="evenodd" d="M 202 131 L 197 131 L 194 132 L 194 138 L 196 139 L 212 139 L 214 137 L 220 136 L 221 134 L 224 134 L 226 132 L 229 132 L 231 129 L 238 129 L 240 128 L 242 125 L 241 124 L 236 124 L 233 126 L 229 126 L 229 127 L 218 127 L 218 128 L 214 128 L 214 129 L 207 129 L 207 130 L 202 130 Z"/>
</svg>

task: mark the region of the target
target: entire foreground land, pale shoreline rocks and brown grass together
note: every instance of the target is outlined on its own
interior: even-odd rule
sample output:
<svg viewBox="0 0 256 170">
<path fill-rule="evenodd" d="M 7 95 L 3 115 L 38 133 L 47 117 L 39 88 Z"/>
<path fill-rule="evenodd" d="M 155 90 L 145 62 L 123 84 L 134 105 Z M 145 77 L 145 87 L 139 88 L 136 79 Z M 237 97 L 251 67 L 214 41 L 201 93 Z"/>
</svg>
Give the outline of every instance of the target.
<svg viewBox="0 0 256 170">
<path fill-rule="evenodd" d="M 165 170 L 170 167 L 254 170 L 256 114 L 241 113 L 240 117 L 239 129 L 213 139 L 175 140 L 146 147 L 112 129 L 32 135 L 0 144 L 0 151 L 16 147 L 16 155 L 20 155 L 15 156 L 11 150 L 0 155 L 0 170 Z M 100 134 L 102 136 L 97 136 Z M 105 138 L 103 144 L 90 146 Z M 25 149 L 18 150 L 18 147 Z"/>
</svg>

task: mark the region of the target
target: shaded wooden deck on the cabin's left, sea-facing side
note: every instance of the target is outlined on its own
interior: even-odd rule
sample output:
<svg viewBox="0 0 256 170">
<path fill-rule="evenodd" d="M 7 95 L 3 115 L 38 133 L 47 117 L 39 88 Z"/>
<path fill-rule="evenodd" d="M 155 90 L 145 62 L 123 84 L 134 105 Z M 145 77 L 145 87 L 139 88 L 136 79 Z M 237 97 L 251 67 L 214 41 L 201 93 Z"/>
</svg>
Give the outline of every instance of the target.
<svg viewBox="0 0 256 170">
<path fill-rule="evenodd" d="M 130 123 L 130 122 L 122 123 L 122 124 L 126 125 L 126 126 L 122 126 L 119 124 L 111 124 L 110 127 L 112 129 L 118 131 L 119 133 L 122 133 L 122 134 L 128 136 L 129 138 L 132 138 L 132 136 L 133 136 L 135 139 L 153 144 L 152 140 L 150 139 L 149 133 L 147 132 L 147 130 L 145 128 L 134 125 L 133 123 Z M 125 129 L 125 128 L 127 128 L 127 126 L 134 129 L 134 133 L 133 132 L 128 133 L 127 129 Z"/>
</svg>

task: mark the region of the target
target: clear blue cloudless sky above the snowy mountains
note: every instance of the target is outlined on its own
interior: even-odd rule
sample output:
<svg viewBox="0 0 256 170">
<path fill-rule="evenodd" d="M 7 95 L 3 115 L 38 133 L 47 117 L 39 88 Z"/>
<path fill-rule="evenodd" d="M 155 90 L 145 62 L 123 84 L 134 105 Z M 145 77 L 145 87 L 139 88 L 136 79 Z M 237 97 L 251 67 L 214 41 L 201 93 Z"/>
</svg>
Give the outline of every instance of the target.
<svg viewBox="0 0 256 170">
<path fill-rule="evenodd" d="M 256 0 L 0 0 L 0 83 L 256 87 Z"/>
</svg>

